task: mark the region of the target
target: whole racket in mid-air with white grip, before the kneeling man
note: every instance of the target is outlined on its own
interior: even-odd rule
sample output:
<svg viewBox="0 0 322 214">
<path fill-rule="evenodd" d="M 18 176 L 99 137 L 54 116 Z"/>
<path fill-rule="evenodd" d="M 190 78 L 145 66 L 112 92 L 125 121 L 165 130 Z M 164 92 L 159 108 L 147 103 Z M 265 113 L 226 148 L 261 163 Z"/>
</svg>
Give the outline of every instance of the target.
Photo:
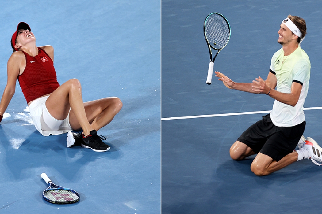
<svg viewBox="0 0 322 214">
<path fill-rule="evenodd" d="M 220 13 L 210 13 L 204 20 L 204 38 L 206 39 L 210 54 L 206 81 L 210 85 L 213 78 L 213 62 L 217 54 L 227 45 L 230 38 L 230 25 L 226 17 Z M 217 50 L 214 57 L 212 56 L 211 49 Z"/>
</svg>

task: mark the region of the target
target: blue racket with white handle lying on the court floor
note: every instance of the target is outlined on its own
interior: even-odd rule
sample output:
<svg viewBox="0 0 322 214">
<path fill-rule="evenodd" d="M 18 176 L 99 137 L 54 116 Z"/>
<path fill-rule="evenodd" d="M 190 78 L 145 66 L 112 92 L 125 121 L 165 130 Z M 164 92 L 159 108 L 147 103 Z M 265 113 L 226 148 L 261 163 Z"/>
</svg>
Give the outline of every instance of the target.
<svg viewBox="0 0 322 214">
<path fill-rule="evenodd" d="M 42 173 L 40 176 L 49 185 L 43 191 L 43 198 L 46 201 L 53 204 L 71 204 L 80 200 L 80 195 L 75 190 L 53 184 L 46 173 Z"/>
</svg>

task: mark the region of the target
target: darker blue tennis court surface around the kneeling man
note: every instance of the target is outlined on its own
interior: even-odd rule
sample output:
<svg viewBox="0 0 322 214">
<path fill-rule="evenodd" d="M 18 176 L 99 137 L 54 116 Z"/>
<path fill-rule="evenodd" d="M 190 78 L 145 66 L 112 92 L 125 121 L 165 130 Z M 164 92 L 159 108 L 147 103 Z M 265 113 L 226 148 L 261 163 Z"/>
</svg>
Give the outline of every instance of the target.
<svg viewBox="0 0 322 214">
<path fill-rule="evenodd" d="M 258 177 L 250 170 L 254 156 L 230 158 L 232 143 L 268 114 L 256 113 L 270 111 L 274 100 L 229 90 L 214 75 L 207 85 L 203 33 L 208 14 L 219 12 L 228 19 L 231 38 L 214 71 L 251 82 L 266 79 L 270 59 L 281 48 L 277 31 L 282 20 L 289 14 L 303 17 L 308 33 L 301 47 L 311 61 L 304 135 L 321 145 L 322 110 L 309 110 L 322 107 L 321 8 L 321 1 L 162 1 L 162 214 L 321 212 L 322 167 L 303 160 Z"/>
</svg>

